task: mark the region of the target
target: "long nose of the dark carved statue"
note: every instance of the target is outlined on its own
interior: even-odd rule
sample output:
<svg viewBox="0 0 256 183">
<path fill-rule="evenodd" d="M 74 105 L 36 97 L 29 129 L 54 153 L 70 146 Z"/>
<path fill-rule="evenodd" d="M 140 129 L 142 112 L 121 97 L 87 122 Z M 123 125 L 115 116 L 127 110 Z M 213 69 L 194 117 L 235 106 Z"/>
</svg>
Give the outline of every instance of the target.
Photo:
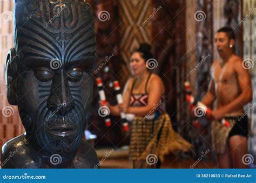
<svg viewBox="0 0 256 183">
<path fill-rule="evenodd" d="M 64 116 L 75 107 L 75 102 L 70 94 L 69 81 L 62 71 L 52 79 L 51 91 L 47 100 L 47 108 L 55 114 Z"/>
</svg>

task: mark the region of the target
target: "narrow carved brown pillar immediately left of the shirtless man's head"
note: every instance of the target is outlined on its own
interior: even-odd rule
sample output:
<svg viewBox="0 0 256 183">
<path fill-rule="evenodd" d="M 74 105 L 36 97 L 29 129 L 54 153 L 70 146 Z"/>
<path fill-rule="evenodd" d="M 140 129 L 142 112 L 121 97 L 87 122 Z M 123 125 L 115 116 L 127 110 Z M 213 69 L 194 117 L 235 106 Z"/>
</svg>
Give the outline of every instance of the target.
<svg viewBox="0 0 256 183">
<path fill-rule="evenodd" d="M 213 30 L 212 27 L 212 1 L 204 0 L 198 1 L 196 4 L 196 11 L 194 13 L 195 26 L 195 57 L 197 66 L 196 78 L 192 80 L 195 83 L 194 91 L 197 100 L 202 100 L 209 84 L 209 79 L 211 77 L 210 68 L 213 62 Z M 205 117 L 198 118 L 200 125 L 198 127 L 198 138 L 196 139 L 194 145 L 196 149 L 197 156 L 201 156 L 201 152 L 210 149 L 211 144 L 211 128 L 209 128 L 210 123 Z M 193 126 L 196 128 L 196 126 Z M 200 135 L 200 136 L 199 136 Z"/>
</svg>

